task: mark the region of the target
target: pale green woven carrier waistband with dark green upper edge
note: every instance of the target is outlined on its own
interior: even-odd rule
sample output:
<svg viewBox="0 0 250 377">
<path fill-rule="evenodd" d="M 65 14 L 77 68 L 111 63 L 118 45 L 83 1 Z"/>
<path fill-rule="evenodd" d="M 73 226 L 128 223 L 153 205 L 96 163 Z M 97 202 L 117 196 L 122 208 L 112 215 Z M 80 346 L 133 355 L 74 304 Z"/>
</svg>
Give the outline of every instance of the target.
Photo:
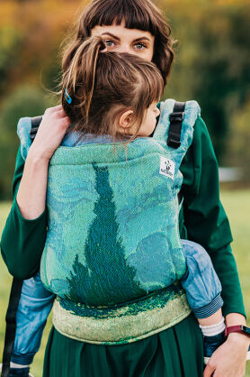
<svg viewBox="0 0 250 377">
<path fill-rule="evenodd" d="M 183 291 L 170 297 L 169 290 L 117 308 L 73 305 L 75 308 L 69 308 L 64 299 L 56 299 L 53 325 L 63 336 L 95 345 L 136 342 L 176 325 L 191 313 Z"/>
</svg>

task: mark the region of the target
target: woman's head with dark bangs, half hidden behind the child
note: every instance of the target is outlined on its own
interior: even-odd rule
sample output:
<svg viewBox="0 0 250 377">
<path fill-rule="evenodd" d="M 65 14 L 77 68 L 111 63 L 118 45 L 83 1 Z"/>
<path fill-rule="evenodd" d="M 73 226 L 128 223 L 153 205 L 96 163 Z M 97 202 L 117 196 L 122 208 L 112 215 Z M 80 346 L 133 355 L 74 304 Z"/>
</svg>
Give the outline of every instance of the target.
<svg viewBox="0 0 250 377">
<path fill-rule="evenodd" d="M 86 38 L 96 35 L 102 36 L 109 51 L 137 54 L 153 61 L 166 84 L 174 60 L 174 41 L 164 16 L 150 0 L 93 0 L 76 23 L 72 53 Z"/>
</svg>

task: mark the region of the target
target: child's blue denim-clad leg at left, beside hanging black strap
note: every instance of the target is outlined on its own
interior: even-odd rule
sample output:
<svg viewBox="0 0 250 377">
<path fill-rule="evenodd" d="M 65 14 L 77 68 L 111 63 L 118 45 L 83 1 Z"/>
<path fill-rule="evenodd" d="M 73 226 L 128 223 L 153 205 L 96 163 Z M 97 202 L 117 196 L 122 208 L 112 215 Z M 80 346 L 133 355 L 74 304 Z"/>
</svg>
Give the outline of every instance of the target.
<svg viewBox="0 0 250 377">
<path fill-rule="evenodd" d="M 53 301 L 54 294 L 43 287 L 40 273 L 23 281 L 22 295 L 16 313 L 12 369 L 29 367 L 32 363 L 34 355 L 40 348 L 42 332 Z"/>
</svg>

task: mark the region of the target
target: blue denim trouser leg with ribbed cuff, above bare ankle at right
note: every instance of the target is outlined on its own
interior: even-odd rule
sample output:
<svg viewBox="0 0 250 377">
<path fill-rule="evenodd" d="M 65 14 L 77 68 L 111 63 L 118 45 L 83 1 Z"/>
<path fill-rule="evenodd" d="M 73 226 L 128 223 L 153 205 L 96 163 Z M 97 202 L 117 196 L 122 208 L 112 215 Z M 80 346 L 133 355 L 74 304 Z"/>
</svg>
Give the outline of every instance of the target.
<svg viewBox="0 0 250 377">
<path fill-rule="evenodd" d="M 202 317 L 209 317 L 223 304 L 219 278 L 209 254 L 200 244 L 187 240 L 182 240 L 182 244 L 187 262 L 187 271 L 181 280 L 183 289 L 194 314 L 201 314 L 203 308 L 203 314 L 207 315 Z"/>
</svg>

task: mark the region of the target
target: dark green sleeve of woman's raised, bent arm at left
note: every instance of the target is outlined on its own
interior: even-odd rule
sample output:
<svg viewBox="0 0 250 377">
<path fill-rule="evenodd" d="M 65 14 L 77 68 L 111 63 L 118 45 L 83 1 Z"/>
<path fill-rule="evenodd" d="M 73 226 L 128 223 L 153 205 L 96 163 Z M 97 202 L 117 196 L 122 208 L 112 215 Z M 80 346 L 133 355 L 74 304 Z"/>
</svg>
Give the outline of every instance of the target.
<svg viewBox="0 0 250 377">
<path fill-rule="evenodd" d="M 4 225 L 1 253 L 9 272 L 16 278 L 29 279 L 40 267 L 47 233 L 47 208 L 34 220 L 25 219 L 16 202 L 24 161 L 17 152 L 13 175 L 13 206 Z"/>
</svg>

